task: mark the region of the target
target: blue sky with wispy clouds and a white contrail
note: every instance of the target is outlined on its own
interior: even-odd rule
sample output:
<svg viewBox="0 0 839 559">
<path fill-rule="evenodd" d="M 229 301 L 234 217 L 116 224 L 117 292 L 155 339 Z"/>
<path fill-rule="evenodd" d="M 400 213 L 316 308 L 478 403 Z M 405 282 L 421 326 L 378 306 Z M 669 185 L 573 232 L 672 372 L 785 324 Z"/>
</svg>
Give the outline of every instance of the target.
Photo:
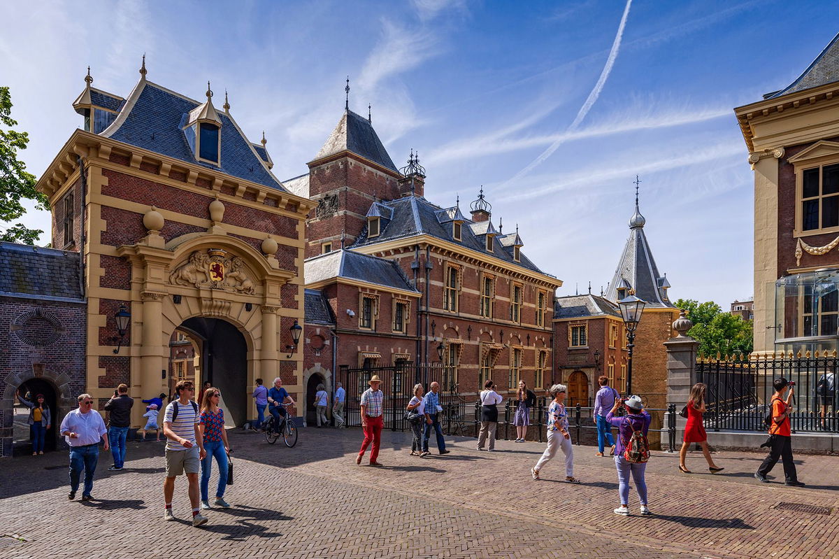
<svg viewBox="0 0 839 559">
<path fill-rule="evenodd" d="M 268 138 L 280 180 L 307 172 L 350 108 L 398 167 L 419 152 L 425 197 L 492 221 L 564 285 L 605 290 L 628 237 L 635 176 L 670 297 L 727 308 L 753 294 L 753 174 L 732 111 L 789 85 L 839 29 L 839 4 L 747 2 L 3 3 L 0 85 L 46 169 L 93 86 L 139 79 L 203 99 Z M 216 97 L 216 100 L 221 97 Z M 221 105 L 221 102 L 217 102 Z M 30 205 L 31 207 L 31 205 Z M 21 220 L 49 232 L 47 212 Z M 3 227 L 0 224 L 0 227 Z M 47 236 L 41 243 L 49 243 Z"/>
</svg>

